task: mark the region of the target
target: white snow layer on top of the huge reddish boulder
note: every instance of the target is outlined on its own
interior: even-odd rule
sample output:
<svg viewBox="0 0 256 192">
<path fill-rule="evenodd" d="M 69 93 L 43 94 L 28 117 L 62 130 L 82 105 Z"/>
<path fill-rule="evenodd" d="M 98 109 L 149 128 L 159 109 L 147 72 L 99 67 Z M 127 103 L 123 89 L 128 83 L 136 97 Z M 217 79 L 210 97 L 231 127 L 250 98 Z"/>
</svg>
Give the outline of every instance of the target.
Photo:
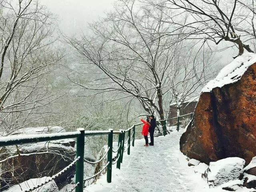
<svg viewBox="0 0 256 192">
<path fill-rule="evenodd" d="M 237 82 L 247 68 L 254 63 L 256 63 L 256 54 L 254 53 L 244 53 L 238 56 L 233 62 L 220 70 L 218 76 L 214 80 L 210 80 L 202 89 L 202 92 L 211 92 L 213 88 Z"/>
</svg>

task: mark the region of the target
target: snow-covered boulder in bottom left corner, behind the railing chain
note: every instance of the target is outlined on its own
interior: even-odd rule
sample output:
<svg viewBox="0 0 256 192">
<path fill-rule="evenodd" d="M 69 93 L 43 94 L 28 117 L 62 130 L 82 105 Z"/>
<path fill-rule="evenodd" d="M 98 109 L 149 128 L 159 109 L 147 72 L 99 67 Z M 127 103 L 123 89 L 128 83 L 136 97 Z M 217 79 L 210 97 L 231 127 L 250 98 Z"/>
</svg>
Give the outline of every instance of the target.
<svg viewBox="0 0 256 192">
<path fill-rule="evenodd" d="M 4 190 L 4 192 L 23 192 L 24 190 L 28 190 L 34 186 L 37 186 L 48 179 L 50 179 L 50 177 L 30 179 L 12 186 L 11 188 Z M 42 187 L 32 190 L 31 192 L 59 192 L 59 190 L 54 180 L 52 180 L 49 183 L 43 185 Z"/>
</svg>

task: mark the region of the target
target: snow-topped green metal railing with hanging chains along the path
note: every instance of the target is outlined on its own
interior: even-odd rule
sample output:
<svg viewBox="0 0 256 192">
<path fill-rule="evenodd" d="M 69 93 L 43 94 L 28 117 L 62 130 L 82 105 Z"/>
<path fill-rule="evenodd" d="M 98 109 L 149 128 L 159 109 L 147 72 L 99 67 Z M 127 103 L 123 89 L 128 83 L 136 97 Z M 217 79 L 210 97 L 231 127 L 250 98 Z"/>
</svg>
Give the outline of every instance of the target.
<svg viewBox="0 0 256 192">
<path fill-rule="evenodd" d="M 180 117 L 188 116 L 190 115 L 190 118 L 192 118 L 193 113 L 186 114 L 183 116 L 177 116 L 170 119 L 165 120 L 158 120 L 157 122 L 162 125 L 162 131 L 163 135 L 165 136 L 168 132 L 166 127 L 166 121 L 172 120 L 177 118 L 177 122 L 175 123 L 177 125 L 177 130 L 179 131 L 180 126 Z M 37 187 L 30 188 L 28 190 L 25 190 L 24 192 L 32 191 L 40 186 L 43 186 L 44 184 L 50 182 L 63 172 L 65 172 L 68 168 L 76 164 L 76 182 L 75 186 L 71 191 L 74 189 L 76 192 L 83 192 L 84 189 L 84 182 L 88 181 L 92 178 L 95 178 L 100 173 L 102 173 L 105 169 L 107 169 L 107 182 L 111 182 L 112 178 L 112 165 L 116 164 L 116 168 L 120 169 L 121 163 L 123 162 L 124 152 L 127 151 L 127 154 L 130 155 L 130 145 L 134 146 L 134 140 L 135 140 L 135 129 L 136 126 L 142 125 L 143 123 L 134 124 L 132 127 L 128 128 L 127 130 L 119 130 L 119 131 L 113 131 L 112 129 L 109 129 L 107 131 L 85 131 L 84 128 L 78 128 L 77 131 L 74 132 L 64 132 L 64 133 L 50 133 L 50 134 L 34 134 L 34 135 L 26 135 L 26 136 L 6 136 L 6 137 L 0 137 L 0 147 L 3 146 L 10 146 L 10 145 L 18 145 L 18 144 L 27 144 L 27 143 L 35 143 L 35 142 L 44 142 L 44 141 L 52 141 L 52 140 L 60 140 L 60 139 L 66 139 L 66 138 L 76 138 L 76 159 L 66 168 L 64 168 L 62 171 L 58 172 L 52 178 L 47 180 L 46 182 L 43 182 L 42 184 L 39 184 Z M 132 133 L 131 133 L 132 132 Z M 113 149 L 113 135 L 118 134 L 118 148 L 115 151 Z M 125 141 L 125 136 L 127 134 L 127 140 Z M 98 135 L 108 135 L 108 149 L 104 155 L 102 155 L 102 158 L 96 162 L 90 162 L 88 160 L 84 159 L 84 138 L 88 136 L 98 136 Z M 132 139 L 132 141 L 131 141 Z M 125 146 L 127 144 L 127 146 Z M 116 160 L 112 162 L 113 160 L 113 152 L 116 153 Z M 93 176 L 84 179 L 84 162 L 90 163 L 90 164 L 97 164 L 101 162 L 107 155 L 107 163 L 105 166 L 102 166 L 103 168 Z"/>
</svg>

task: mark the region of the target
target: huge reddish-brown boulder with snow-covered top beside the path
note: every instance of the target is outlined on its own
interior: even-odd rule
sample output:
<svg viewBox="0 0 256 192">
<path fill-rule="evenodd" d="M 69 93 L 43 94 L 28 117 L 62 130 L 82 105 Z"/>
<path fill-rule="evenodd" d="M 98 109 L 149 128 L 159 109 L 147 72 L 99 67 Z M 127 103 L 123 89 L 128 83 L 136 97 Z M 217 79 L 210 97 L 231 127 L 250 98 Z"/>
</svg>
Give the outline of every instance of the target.
<svg viewBox="0 0 256 192">
<path fill-rule="evenodd" d="M 203 88 L 180 150 L 206 164 L 256 156 L 256 55 L 245 53 Z"/>
</svg>

